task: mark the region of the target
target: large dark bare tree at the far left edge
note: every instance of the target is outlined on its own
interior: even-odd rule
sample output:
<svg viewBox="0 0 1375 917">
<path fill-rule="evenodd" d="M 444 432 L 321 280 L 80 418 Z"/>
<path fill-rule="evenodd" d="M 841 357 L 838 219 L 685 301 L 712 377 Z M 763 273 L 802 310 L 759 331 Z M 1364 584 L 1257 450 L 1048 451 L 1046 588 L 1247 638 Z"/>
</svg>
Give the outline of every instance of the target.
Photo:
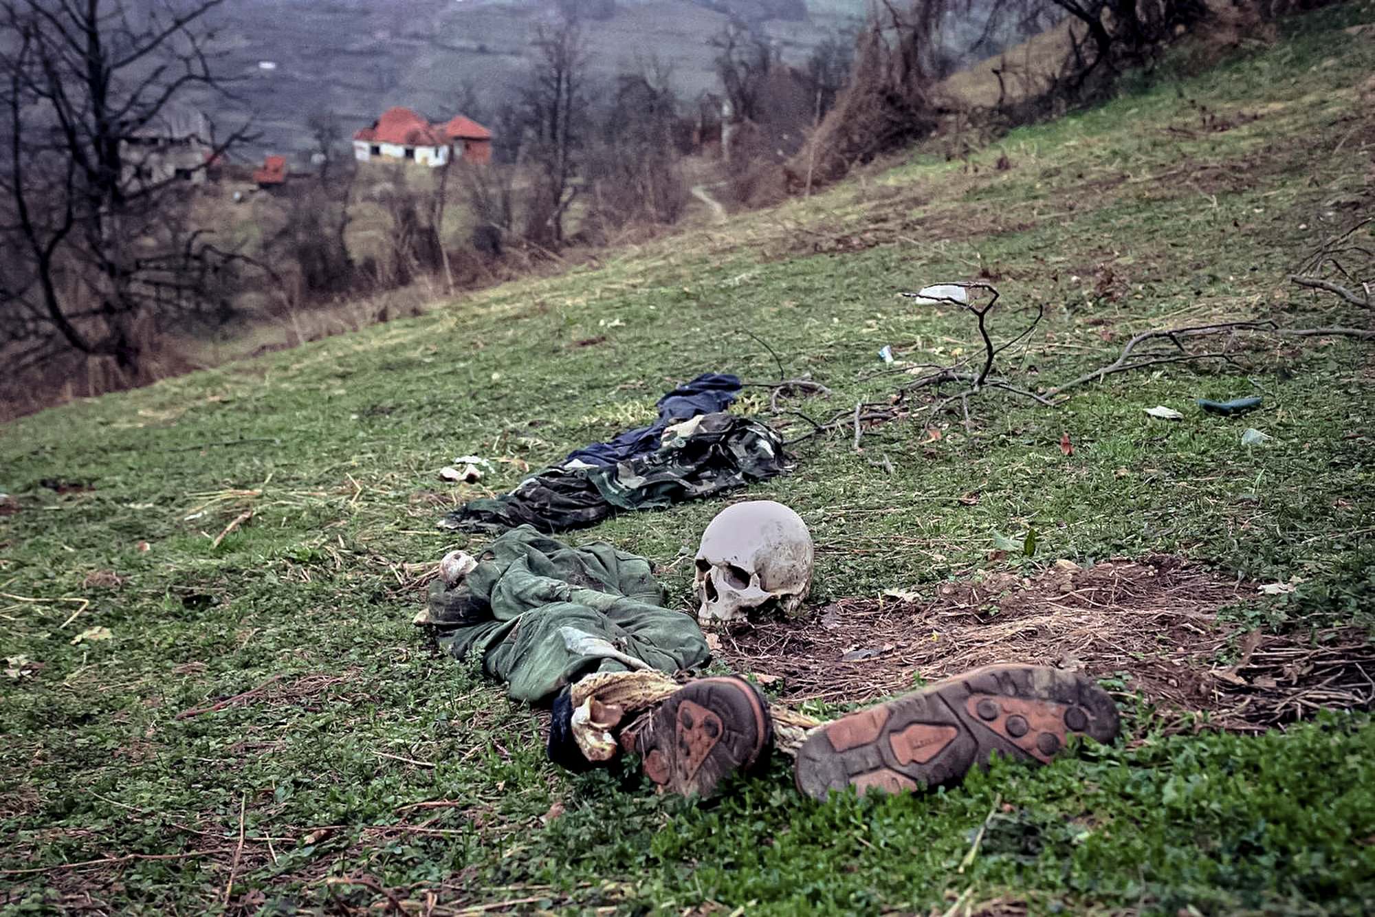
<svg viewBox="0 0 1375 917">
<path fill-rule="evenodd" d="M 70 348 L 138 377 L 148 322 L 204 308 L 232 269 L 182 221 L 186 186 L 246 136 L 180 103 L 221 89 L 204 22 L 220 3 L 0 0 L 11 368 Z"/>
</svg>

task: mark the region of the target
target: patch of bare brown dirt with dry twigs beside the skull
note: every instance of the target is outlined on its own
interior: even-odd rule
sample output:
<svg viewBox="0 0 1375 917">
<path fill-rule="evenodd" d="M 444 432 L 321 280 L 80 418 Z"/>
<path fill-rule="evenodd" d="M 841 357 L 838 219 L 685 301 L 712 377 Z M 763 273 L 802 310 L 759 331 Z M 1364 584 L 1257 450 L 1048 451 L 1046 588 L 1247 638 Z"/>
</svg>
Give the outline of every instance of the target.
<svg viewBox="0 0 1375 917">
<path fill-rule="evenodd" d="M 1070 564 L 1037 579 L 943 583 L 930 598 L 842 599 L 810 620 L 723 637 L 733 668 L 781 700 L 866 701 L 991 663 L 1118 678 L 1177 727 L 1262 731 L 1319 709 L 1375 705 L 1375 645 L 1364 628 L 1246 632 L 1218 609 L 1257 595 L 1178 558 Z"/>
</svg>

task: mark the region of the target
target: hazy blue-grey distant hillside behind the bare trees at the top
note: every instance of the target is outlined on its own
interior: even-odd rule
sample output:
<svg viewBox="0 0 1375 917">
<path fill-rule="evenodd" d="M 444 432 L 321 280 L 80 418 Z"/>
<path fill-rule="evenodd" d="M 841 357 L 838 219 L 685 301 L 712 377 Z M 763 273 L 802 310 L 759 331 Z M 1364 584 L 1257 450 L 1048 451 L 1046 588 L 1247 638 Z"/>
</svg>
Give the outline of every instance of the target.
<svg viewBox="0 0 1375 917">
<path fill-rule="evenodd" d="M 656 56 L 686 98 L 715 88 L 707 43 L 730 15 L 798 62 L 865 11 L 865 0 L 569 1 L 586 21 L 595 74 Z M 197 102 L 221 121 L 252 106 L 261 133 L 245 150 L 253 155 L 308 148 L 304 124 L 319 111 L 334 111 L 349 131 L 393 104 L 452 114 L 466 81 L 495 106 L 528 71 L 535 25 L 556 8 L 550 0 L 234 0 L 216 29 L 220 69 L 243 102 Z"/>
</svg>

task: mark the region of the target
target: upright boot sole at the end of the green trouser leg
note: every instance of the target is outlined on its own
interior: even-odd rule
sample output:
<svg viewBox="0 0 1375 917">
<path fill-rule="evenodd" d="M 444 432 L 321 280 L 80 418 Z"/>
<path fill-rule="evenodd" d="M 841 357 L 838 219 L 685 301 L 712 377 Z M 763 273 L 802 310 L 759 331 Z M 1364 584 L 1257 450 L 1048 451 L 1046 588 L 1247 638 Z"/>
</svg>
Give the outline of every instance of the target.
<svg viewBox="0 0 1375 917">
<path fill-rule="evenodd" d="M 674 692 L 631 737 L 660 792 L 712 796 L 736 771 L 767 758 L 773 719 L 763 696 L 741 678 L 703 678 Z"/>
</svg>

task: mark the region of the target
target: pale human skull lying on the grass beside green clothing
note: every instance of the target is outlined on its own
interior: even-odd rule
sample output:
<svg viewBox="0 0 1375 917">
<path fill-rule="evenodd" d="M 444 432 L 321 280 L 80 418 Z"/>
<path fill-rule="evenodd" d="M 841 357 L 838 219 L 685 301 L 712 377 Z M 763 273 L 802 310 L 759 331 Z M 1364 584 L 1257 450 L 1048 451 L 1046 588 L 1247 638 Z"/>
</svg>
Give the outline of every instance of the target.
<svg viewBox="0 0 1375 917">
<path fill-rule="evenodd" d="M 795 612 L 811 586 L 811 562 L 807 525 L 782 503 L 723 509 L 697 549 L 697 621 L 733 624 L 770 604 Z"/>
</svg>

